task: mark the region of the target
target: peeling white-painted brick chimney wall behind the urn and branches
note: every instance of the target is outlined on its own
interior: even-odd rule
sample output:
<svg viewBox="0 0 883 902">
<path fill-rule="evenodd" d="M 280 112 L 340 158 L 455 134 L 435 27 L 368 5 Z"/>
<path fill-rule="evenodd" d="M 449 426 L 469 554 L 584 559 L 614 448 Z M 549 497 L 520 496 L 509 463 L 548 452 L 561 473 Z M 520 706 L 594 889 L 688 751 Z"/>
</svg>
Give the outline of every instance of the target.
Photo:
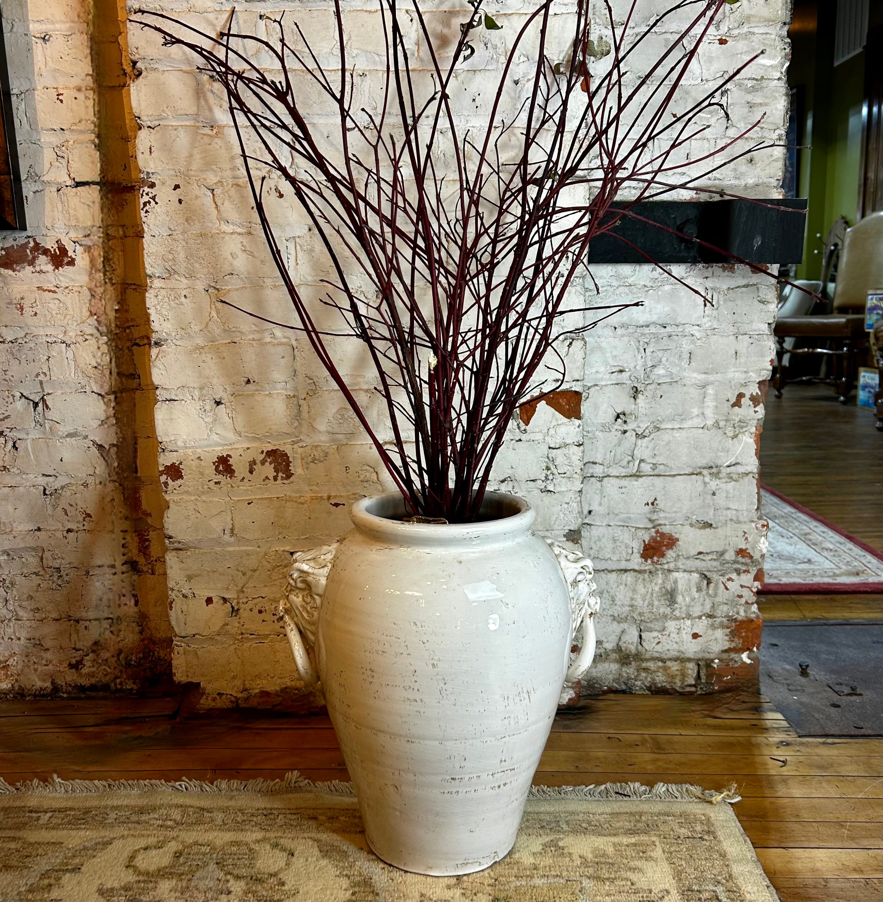
<svg viewBox="0 0 883 902">
<path fill-rule="evenodd" d="M 289 5 L 287 19 L 296 18 L 321 53 L 333 53 L 327 2 Z M 250 3 L 240 28 L 262 29 L 262 11 L 276 15 L 284 6 Z M 752 52 L 766 53 L 732 85 L 731 123 L 721 120 L 694 142 L 694 155 L 758 111 L 766 114 L 759 137 L 781 138 L 786 6 L 742 0 L 706 42 L 689 90 Z M 152 0 L 149 7 L 206 30 L 229 9 L 214 0 Z M 471 90 L 529 7 L 493 7 L 504 28 L 483 36 L 474 78 L 465 82 Z M 345 8 L 350 59 L 365 75 L 367 95 L 382 67 L 370 37 L 376 7 L 350 0 Z M 453 34 L 466 12 L 438 4 L 430 27 Z M 297 686 L 274 615 L 288 552 L 339 535 L 349 504 L 388 480 L 308 349 L 218 304 L 245 300 L 266 316 L 290 317 L 216 85 L 152 32 L 130 23 L 129 35 L 142 72 L 133 108 L 142 126 L 175 673 L 200 682 L 215 704 L 235 704 Z M 708 184 L 773 196 L 781 166 L 780 152 L 767 152 Z M 314 236 L 284 184 L 269 189 L 294 272 L 315 284 L 322 265 Z M 513 424 L 500 483 L 537 503 L 542 529 L 581 538 L 596 561 L 603 606 L 587 687 L 696 691 L 747 678 L 756 643 L 753 577 L 764 544 L 759 382 L 772 355 L 774 287 L 744 268 L 694 268 L 686 276 L 715 301 L 704 308 L 647 266 L 594 272 L 601 303 L 643 299 L 645 306 L 573 344 L 565 388 L 583 392 L 582 423 L 541 404 L 528 425 Z M 369 398 L 363 354 L 348 359 L 354 387 Z"/>
</svg>

